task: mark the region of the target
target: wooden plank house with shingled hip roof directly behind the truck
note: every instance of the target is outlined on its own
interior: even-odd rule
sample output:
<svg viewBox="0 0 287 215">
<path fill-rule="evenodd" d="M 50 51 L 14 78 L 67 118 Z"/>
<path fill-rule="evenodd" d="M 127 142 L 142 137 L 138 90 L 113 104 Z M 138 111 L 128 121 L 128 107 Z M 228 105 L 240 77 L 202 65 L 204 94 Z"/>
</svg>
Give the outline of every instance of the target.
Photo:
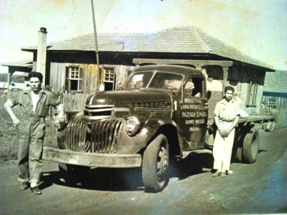
<svg viewBox="0 0 287 215">
<path fill-rule="evenodd" d="M 208 76 L 235 87 L 248 113 L 258 113 L 262 100 L 265 72 L 273 67 L 236 50 L 196 27 L 174 27 L 154 33 L 98 34 L 99 64 L 97 69 L 94 34 L 65 39 L 47 44 L 45 84 L 55 92 L 63 89 L 87 94 L 105 83 L 106 90 L 123 85 L 135 68 L 134 58 L 205 60 L 195 64 Z M 37 46 L 22 47 L 32 52 L 33 70 L 36 70 Z M 210 63 L 210 62 L 215 63 Z M 222 67 L 219 61 L 232 61 Z"/>
</svg>

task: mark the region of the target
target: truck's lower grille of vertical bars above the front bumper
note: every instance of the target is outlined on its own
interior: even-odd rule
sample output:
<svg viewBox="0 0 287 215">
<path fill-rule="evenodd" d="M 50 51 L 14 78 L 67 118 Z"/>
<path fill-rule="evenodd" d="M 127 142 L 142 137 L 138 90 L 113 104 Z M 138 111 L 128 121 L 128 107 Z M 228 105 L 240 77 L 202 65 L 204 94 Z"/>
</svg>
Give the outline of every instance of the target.
<svg viewBox="0 0 287 215">
<path fill-rule="evenodd" d="M 119 119 L 89 125 L 79 119 L 67 126 L 65 145 L 72 151 L 116 153 L 122 126 Z"/>
</svg>

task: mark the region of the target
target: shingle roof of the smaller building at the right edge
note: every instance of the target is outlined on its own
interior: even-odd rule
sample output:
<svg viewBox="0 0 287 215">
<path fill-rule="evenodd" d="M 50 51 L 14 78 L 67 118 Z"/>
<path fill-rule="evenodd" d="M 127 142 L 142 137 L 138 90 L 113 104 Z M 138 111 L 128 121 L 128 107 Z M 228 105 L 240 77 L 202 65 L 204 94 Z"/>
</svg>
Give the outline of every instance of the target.
<svg viewBox="0 0 287 215">
<path fill-rule="evenodd" d="M 265 73 L 263 91 L 274 93 L 287 93 L 287 71 Z"/>
</svg>

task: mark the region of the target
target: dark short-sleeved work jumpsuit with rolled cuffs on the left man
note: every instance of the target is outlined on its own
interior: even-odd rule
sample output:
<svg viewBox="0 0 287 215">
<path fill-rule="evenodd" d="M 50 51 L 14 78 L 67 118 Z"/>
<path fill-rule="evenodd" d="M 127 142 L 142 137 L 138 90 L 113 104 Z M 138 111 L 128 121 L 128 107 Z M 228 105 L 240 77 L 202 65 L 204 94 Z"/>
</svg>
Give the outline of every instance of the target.
<svg viewBox="0 0 287 215">
<path fill-rule="evenodd" d="M 19 137 L 18 168 L 21 182 L 39 182 L 43 169 L 42 151 L 45 135 L 45 117 L 49 106 L 59 105 L 57 96 L 42 90 L 33 113 L 31 90 L 23 90 L 10 99 L 13 106 L 21 106 L 23 119 L 16 125 Z M 29 180 L 30 179 L 30 180 Z"/>
</svg>

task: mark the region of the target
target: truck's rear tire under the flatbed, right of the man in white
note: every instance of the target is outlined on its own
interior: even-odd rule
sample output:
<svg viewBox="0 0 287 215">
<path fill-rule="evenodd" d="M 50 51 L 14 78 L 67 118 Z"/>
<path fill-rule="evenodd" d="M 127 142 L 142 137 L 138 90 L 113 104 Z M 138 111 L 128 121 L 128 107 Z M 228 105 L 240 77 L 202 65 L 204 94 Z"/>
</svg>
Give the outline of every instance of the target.
<svg viewBox="0 0 287 215">
<path fill-rule="evenodd" d="M 253 163 L 256 161 L 259 150 L 259 132 L 253 127 L 245 135 L 242 147 L 242 161 Z"/>
</svg>

